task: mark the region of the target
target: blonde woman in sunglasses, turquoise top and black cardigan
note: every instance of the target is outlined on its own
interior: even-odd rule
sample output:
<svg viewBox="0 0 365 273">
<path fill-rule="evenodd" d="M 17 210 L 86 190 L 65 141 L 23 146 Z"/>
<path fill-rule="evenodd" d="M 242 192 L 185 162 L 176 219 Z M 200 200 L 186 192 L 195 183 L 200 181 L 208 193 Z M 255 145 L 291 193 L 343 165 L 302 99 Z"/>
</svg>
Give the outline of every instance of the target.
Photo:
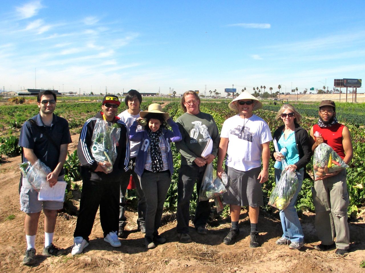
<svg viewBox="0 0 365 273">
<path fill-rule="evenodd" d="M 275 152 L 273 159 L 276 161 L 284 159 L 287 163 L 286 169 L 295 171 L 298 178 L 298 188 L 289 205 L 284 210 L 280 210 L 283 236 L 276 241 L 276 244 L 289 245 L 289 249 L 300 249 L 304 245 L 304 234 L 294 205 L 301 190 L 306 165 L 311 159 L 311 147 L 308 132 L 299 126 L 301 115 L 294 106 L 283 104 L 276 115 L 276 120 L 280 119 L 283 120 L 284 125 L 277 128 L 273 139 L 276 139 L 279 151 L 285 147 L 287 154 Z M 275 169 L 276 182 L 279 181 L 283 168 L 281 165 L 280 169 Z"/>
</svg>

